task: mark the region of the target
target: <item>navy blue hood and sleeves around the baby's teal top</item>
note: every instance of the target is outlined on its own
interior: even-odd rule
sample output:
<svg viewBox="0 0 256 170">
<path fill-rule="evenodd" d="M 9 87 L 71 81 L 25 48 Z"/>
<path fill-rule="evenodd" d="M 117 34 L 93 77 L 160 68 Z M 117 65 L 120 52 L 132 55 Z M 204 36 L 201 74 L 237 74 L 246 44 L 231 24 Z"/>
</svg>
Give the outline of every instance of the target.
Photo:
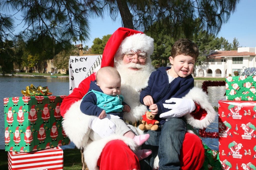
<svg viewBox="0 0 256 170">
<path fill-rule="evenodd" d="M 100 87 L 96 84 L 96 80 L 90 83 L 90 88 L 88 92 L 91 90 L 100 91 L 103 93 Z M 122 105 L 125 105 L 125 104 L 126 104 L 125 102 L 122 102 Z M 103 109 L 97 106 L 96 95 L 94 93 L 89 93 L 82 100 L 80 104 L 80 110 L 81 112 L 87 115 L 99 116 Z M 120 112 L 120 113 L 111 112 L 108 114 L 113 114 L 113 115 L 119 116 L 120 118 L 123 118 L 123 112 Z"/>
</svg>

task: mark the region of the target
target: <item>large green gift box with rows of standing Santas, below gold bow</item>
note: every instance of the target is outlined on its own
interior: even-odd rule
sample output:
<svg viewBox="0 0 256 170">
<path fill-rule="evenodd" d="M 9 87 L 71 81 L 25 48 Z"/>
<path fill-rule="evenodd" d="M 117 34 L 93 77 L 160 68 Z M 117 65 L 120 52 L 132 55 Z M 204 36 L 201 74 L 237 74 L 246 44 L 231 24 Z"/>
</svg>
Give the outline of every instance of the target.
<svg viewBox="0 0 256 170">
<path fill-rule="evenodd" d="M 31 152 L 69 144 L 60 115 L 65 97 L 4 98 L 5 151 Z"/>
</svg>

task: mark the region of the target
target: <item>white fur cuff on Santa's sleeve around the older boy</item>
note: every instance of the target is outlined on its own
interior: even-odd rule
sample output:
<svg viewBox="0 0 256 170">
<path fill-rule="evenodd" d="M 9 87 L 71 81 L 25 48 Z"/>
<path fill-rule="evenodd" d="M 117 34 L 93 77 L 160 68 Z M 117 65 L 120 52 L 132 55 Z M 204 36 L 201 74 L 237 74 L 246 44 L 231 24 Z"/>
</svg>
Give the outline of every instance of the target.
<svg viewBox="0 0 256 170">
<path fill-rule="evenodd" d="M 211 106 L 207 94 L 201 88 L 194 87 L 183 98 L 194 100 L 201 106 L 202 109 L 206 110 L 207 112 L 206 117 L 202 120 L 195 119 L 192 115 L 193 113 L 186 114 L 185 117 L 187 119 L 187 123 L 190 124 L 192 127 L 203 129 L 209 126 L 214 121 L 217 113 Z"/>
</svg>

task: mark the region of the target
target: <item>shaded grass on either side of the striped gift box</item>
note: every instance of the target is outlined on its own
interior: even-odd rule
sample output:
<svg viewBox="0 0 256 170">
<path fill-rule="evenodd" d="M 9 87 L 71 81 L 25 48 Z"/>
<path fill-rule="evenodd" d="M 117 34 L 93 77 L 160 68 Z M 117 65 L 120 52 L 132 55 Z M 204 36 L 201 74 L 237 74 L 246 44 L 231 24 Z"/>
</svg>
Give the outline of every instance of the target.
<svg viewBox="0 0 256 170">
<path fill-rule="evenodd" d="M 64 170 L 82 169 L 81 153 L 79 149 L 64 149 L 63 156 Z M 7 152 L 4 150 L 0 150 L 0 169 L 8 169 Z"/>
</svg>

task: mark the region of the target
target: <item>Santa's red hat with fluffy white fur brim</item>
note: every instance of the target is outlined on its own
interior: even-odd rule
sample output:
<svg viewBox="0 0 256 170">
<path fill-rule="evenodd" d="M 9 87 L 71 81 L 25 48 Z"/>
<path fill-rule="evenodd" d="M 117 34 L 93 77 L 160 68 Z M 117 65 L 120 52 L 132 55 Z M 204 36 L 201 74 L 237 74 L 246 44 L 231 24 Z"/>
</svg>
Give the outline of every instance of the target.
<svg viewBox="0 0 256 170">
<path fill-rule="evenodd" d="M 123 57 L 123 54 L 131 50 L 144 51 L 149 58 L 154 50 L 154 39 L 140 31 L 128 28 L 117 29 L 106 43 L 101 67 L 114 67 L 114 57 Z"/>
</svg>

